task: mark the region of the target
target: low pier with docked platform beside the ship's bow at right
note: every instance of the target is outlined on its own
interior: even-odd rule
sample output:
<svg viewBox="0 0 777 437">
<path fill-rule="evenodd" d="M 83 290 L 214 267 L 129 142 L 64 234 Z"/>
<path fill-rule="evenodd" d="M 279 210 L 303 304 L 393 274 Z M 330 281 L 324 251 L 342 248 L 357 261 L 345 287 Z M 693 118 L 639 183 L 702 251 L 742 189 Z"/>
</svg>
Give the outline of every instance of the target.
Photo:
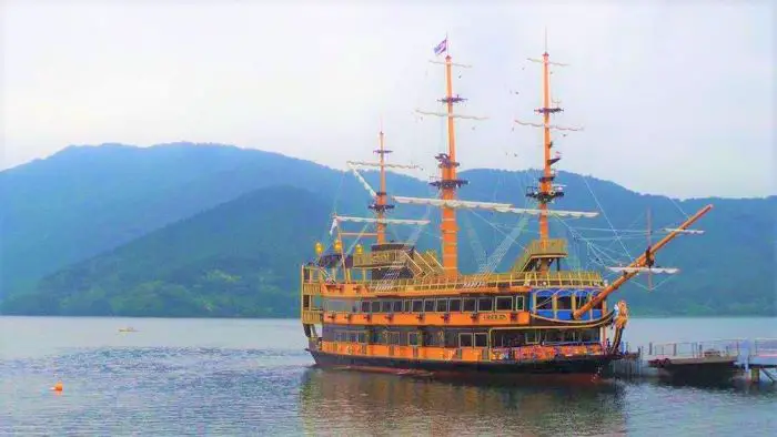
<svg viewBox="0 0 777 437">
<path fill-rule="evenodd" d="M 624 345 L 628 350 L 628 345 Z M 616 377 L 660 377 L 678 382 L 744 378 L 777 383 L 777 338 L 650 343 L 613 363 Z"/>
</svg>

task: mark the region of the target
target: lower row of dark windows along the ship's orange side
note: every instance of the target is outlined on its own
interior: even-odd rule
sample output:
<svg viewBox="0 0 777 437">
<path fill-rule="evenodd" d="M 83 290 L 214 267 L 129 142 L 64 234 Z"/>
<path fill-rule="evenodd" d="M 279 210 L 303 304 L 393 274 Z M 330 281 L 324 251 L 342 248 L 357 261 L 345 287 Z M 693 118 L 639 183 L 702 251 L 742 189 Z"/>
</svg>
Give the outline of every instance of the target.
<svg viewBox="0 0 777 437">
<path fill-rule="evenodd" d="M 438 346 L 438 347 L 487 347 L 488 334 L 484 332 L 366 332 L 339 329 L 324 333 L 324 339 L 364 344 L 382 344 L 396 346 Z M 495 333 L 492 338 L 493 347 L 517 347 L 536 344 L 589 344 L 597 343 L 599 329 L 529 329 L 523 332 Z"/>
</svg>

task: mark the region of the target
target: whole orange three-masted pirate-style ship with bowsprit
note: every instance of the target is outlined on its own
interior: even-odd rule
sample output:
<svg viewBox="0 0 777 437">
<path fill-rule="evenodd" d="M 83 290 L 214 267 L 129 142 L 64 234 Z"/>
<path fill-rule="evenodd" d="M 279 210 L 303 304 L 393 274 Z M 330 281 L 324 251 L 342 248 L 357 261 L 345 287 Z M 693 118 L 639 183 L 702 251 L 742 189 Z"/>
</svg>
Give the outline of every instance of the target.
<svg viewBox="0 0 777 437">
<path fill-rule="evenodd" d="M 390 153 L 380 132 L 376 162 L 349 162 L 354 175 L 370 192 L 371 217 L 334 215 L 332 243 L 316 243 L 315 261 L 301 268 L 301 318 L 309 339 L 307 350 L 317 365 L 391 370 L 454 370 L 492 373 L 583 373 L 601 372 L 622 356 L 622 335 L 628 319 L 625 302 L 608 305 L 607 298 L 640 273 L 660 273 L 655 253 L 677 235 L 696 232 L 688 227 L 712 205 L 698 211 L 647 248 L 628 265 L 614 266 L 617 277 L 605 281 L 598 271 L 568 270 L 567 241 L 549 233 L 551 218 L 595 217 L 597 212 L 559 211 L 551 205 L 564 196 L 555 182 L 561 156 L 552 153 L 553 130 L 574 130 L 551 123 L 561 112 L 549 98 L 549 68 L 563 65 L 542 59 L 541 123 L 526 123 L 543 130 L 544 159 L 536 185 L 528 186 L 529 206 L 509 203 L 458 200 L 457 190 L 466 184 L 457 175 L 454 122 L 465 116 L 454 113 L 464 101 L 453 92 L 453 68 L 447 39 L 435 49 L 445 53 L 445 96 L 440 115 L 447 124 L 447 153 L 435 156 L 440 177 L 432 182 L 435 199 L 393 195 L 386 187 L 386 169 L 412 166 L 386 163 Z M 374 191 L 359 172 L 377 169 L 380 189 Z M 389 218 L 395 204 L 420 204 L 441 210 L 442 256 L 421 251 L 413 238 L 386 241 L 386 226 L 426 226 L 428 220 Z M 524 248 L 505 272 L 483 270 L 464 274 L 458 268 L 458 210 L 536 217 L 538 238 Z M 363 223 L 370 232 L 346 232 L 347 223 Z M 350 240 L 349 240 L 350 238 Z M 369 250 L 361 244 L 374 238 Z M 349 247 L 346 247 L 346 242 Z M 504 255 L 504 250 L 497 248 Z M 496 255 L 496 254 L 495 254 Z M 493 263 L 492 263 L 493 264 Z M 665 270 L 664 273 L 672 273 Z"/>
</svg>

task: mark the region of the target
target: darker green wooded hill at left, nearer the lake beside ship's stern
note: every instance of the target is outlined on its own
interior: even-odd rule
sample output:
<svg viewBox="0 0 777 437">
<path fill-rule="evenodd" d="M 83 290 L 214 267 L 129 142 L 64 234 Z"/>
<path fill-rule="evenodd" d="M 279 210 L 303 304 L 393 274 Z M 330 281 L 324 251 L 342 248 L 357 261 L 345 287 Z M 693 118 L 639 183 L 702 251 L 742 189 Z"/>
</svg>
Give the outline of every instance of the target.
<svg viewBox="0 0 777 437">
<path fill-rule="evenodd" d="M 164 226 L 11 296 L 10 314 L 291 316 L 291 278 L 314 253 L 327 205 L 290 186 L 260 189 Z"/>
</svg>

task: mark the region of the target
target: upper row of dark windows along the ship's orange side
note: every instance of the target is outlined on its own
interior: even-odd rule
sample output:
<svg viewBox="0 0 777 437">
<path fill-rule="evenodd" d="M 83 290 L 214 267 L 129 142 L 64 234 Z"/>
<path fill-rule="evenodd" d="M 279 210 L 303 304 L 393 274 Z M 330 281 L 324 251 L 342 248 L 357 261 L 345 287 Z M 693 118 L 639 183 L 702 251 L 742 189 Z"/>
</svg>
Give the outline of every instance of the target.
<svg viewBox="0 0 777 437">
<path fill-rule="evenodd" d="M 526 296 L 443 297 L 427 299 L 324 299 L 324 311 L 341 313 L 474 313 L 524 311 Z"/>
</svg>

